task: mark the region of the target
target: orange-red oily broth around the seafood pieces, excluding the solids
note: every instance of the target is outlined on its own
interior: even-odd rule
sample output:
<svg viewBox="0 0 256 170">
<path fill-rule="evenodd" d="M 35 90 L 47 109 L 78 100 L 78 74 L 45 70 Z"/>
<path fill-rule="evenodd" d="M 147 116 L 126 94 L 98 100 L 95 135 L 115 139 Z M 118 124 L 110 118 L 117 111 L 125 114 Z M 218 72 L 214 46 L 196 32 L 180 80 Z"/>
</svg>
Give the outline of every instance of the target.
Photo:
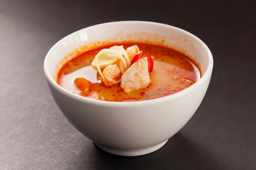
<svg viewBox="0 0 256 170">
<path fill-rule="evenodd" d="M 171 48 L 142 43 L 115 45 L 124 45 L 126 49 L 135 44 L 140 51 L 143 51 L 143 54 L 149 54 L 154 61 L 154 68 L 150 73 L 151 83 L 148 87 L 126 94 L 120 85 L 106 87 L 101 83 L 99 73 L 91 67 L 91 62 L 101 49 L 110 48 L 113 45 L 86 51 L 65 63 L 58 73 L 57 83 L 67 91 L 83 96 L 83 93 L 76 87 L 74 79 L 84 77 L 93 83 L 90 94 L 84 97 L 113 102 L 132 102 L 175 94 L 201 78 L 201 72 L 195 62 Z"/>
</svg>

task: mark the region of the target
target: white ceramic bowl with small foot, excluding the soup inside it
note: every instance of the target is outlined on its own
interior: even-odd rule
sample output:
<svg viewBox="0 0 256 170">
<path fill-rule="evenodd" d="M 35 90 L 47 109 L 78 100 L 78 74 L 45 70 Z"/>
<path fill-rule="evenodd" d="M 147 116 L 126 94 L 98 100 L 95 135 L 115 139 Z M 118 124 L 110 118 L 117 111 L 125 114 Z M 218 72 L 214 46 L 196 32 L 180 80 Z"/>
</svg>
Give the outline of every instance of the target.
<svg viewBox="0 0 256 170">
<path fill-rule="evenodd" d="M 58 69 L 76 54 L 101 42 L 125 40 L 154 42 L 183 51 L 200 65 L 203 76 L 176 94 L 140 102 L 88 99 L 56 83 Z M 177 133 L 201 104 L 212 67 L 212 54 L 198 37 L 180 28 L 144 21 L 104 23 L 81 29 L 57 42 L 44 61 L 49 89 L 66 118 L 100 148 L 121 156 L 154 152 Z"/>
</svg>

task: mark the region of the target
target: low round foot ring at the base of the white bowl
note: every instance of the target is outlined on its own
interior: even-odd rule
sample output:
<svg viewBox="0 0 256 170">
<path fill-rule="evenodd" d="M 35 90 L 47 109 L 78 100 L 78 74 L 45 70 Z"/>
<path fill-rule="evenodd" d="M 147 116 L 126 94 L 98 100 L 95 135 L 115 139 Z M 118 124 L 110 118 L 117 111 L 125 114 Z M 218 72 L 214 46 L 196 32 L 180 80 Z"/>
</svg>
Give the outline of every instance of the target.
<svg viewBox="0 0 256 170">
<path fill-rule="evenodd" d="M 119 150 L 119 149 L 113 149 L 113 148 L 110 148 L 110 147 L 105 147 L 105 146 L 102 146 L 100 144 L 96 144 L 96 143 L 95 144 L 99 148 L 104 150 L 105 152 L 108 152 L 108 153 L 111 153 L 111 154 L 114 154 L 114 155 L 119 155 L 119 156 L 141 156 L 141 155 L 145 155 L 145 154 L 148 154 L 148 153 L 152 153 L 152 152 L 160 149 L 161 147 L 163 147 L 163 145 L 166 144 L 166 142 L 168 140 L 169 139 L 167 139 L 166 141 L 164 141 L 160 144 L 154 145 L 152 147 L 147 147 L 147 148 L 144 148 L 144 149 L 137 149 L 137 150 Z"/>
</svg>

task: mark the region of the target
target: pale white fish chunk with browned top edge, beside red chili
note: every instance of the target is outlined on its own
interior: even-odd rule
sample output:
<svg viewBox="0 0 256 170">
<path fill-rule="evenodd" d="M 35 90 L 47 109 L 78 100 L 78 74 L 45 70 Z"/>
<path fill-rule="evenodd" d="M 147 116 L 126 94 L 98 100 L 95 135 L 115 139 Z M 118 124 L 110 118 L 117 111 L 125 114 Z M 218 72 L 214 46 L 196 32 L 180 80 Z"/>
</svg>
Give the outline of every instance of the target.
<svg viewBox="0 0 256 170">
<path fill-rule="evenodd" d="M 150 83 L 148 73 L 148 58 L 144 57 L 134 62 L 121 77 L 121 88 L 125 93 L 145 88 Z"/>
</svg>

